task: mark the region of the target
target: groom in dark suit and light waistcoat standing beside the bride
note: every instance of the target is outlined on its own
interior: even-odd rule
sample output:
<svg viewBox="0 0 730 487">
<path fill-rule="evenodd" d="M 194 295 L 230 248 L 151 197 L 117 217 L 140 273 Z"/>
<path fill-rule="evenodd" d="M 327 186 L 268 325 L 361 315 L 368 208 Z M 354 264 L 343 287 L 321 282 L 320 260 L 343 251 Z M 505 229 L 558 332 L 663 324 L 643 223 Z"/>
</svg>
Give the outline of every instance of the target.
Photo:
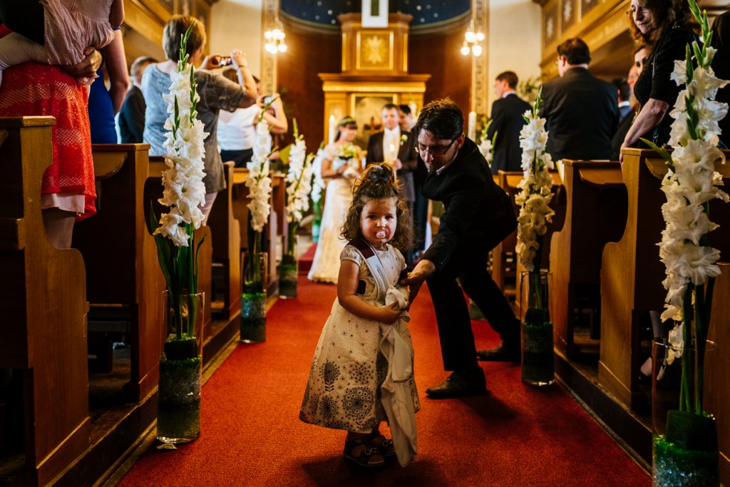
<svg viewBox="0 0 730 487">
<path fill-rule="evenodd" d="M 383 118 L 383 131 L 370 136 L 367 142 L 366 163 L 387 162 L 396 168 L 398 183 L 401 185 L 408 210 L 413 215 L 413 202 L 415 202 L 413 173 L 416 169 L 415 137 L 410 131 L 401 131 L 398 105 L 385 104 L 381 117 Z M 407 252 L 405 258 L 410 266 L 412 253 Z"/>
</svg>

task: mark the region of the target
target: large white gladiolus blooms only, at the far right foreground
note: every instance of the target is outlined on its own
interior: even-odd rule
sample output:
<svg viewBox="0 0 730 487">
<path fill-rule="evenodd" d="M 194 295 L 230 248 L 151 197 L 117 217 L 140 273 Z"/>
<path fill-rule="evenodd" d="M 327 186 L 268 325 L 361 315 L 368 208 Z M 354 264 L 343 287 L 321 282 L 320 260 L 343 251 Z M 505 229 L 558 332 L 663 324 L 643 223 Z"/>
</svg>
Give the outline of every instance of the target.
<svg viewBox="0 0 730 487">
<path fill-rule="evenodd" d="M 704 204 L 715 198 L 725 202 L 729 199 L 718 188 L 722 177 L 715 172 L 715 164 L 724 162 L 723 153 L 716 147 L 720 133 L 718 120 L 727 115 L 728 107 L 714 99 L 718 89 L 728 82 L 715 77 L 709 67 L 715 50 L 703 49 L 704 64 L 694 68 L 691 82 L 679 93 L 670 112 L 675 119 L 669 139 L 672 161 L 661 187 L 666 195 L 666 203 L 661 207 L 666 229 L 661 232 L 658 244 L 659 256 L 666 267 L 666 279 L 662 282 L 667 291 L 666 310 L 662 320 L 682 321 L 690 283 L 703 285 L 710 277 L 720 274 L 719 250 L 701 242 L 708 232 L 718 228 L 704 211 Z M 685 60 L 675 61 L 672 80 L 677 85 L 688 82 L 687 67 Z M 688 115 L 689 108 L 696 112 L 694 121 Z M 678 351 L 669 350 L 670 363 L 681 356 L 682 340 L 680 325 L 669 333 L 669 342 L 679 347 Z"/>
</svg>

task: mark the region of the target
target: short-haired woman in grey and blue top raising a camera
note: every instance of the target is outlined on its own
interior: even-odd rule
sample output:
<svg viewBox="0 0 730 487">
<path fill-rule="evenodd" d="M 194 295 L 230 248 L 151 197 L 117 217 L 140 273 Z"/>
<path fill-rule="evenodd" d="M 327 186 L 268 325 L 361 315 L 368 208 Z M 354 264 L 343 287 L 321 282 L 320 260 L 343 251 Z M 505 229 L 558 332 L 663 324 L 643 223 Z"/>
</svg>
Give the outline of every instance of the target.
<svg viewBox="0 0 730 487">
<path fill-rule="evenodd" d="M 194 25 L 193 25 L 194 24 Z M 256 85 L 251 72 L 248 70 L 246 56 L 234 50 L 231 53 L 231 65 L 237 70 L 238 83 L 227 80 L 220 74 L 208 72 L 220 66 L 223 56 L 209 55 L 203 58 L 203 48 L 206 42 L 205 27 L 196 18 L 184 15 L 173 15 L 165 26 L 162 47 L 165 50 L 167 61 L 150 64 L 142 76 L 142 93 L 145 93 L 147 110 L 145 111 L 144 139 L 152 147 L 150 156 L 164 156 L 166 140 L 164 128 L 167 120 L 167 102 L 163 95 L 169 92 L 170 74 L 177 70 L 177 61 L 180 56 L 180 38 L 193 25 L 188 37 L 188 62 L 200 64 L 195 71 L 196 91 L 200 96 L 198 102 L 198 119 L 203 123 L 207 137 L 204 139 L 205 158 L 205 205 L 201 207 L 204 218 L 207 219 L 218 191 L 226 188 L 223 177 L 223 162 L 218 152 L 218 113 L 220 110 L 232 112 L 237 108 L 245 108 L 256 101 Z M 202 63 L 201 63 L 202 59 Z M 205 223 L 205 220 L 203 221 Z"/>
</svg>

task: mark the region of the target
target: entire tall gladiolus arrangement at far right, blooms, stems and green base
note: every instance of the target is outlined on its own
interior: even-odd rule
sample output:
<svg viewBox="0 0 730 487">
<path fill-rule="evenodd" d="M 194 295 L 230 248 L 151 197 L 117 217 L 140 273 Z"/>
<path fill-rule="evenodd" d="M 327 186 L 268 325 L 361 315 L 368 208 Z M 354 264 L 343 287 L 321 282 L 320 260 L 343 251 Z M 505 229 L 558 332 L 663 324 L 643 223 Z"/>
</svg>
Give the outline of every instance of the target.
<svg viewBox="0 0 730 487">
<path fill-rule="evenodd" d="M 710 67 L 715 49 L 710 47 L 707 12 L 700 13 L 694 0 L 689 4 L 702 26 L 702 45 L 692 42 L 685 59 L 675 61 L 672 80 L 685 88 L 670 112 L 675 119 L 669 139 L 672 153 L 645 141 L 664 157 L 669 168 L 661 183 L 666 195 L 661 207 L 666 229 L 658 245 L 666 266 L 662 284 L 667 290 L 661 318 L 677 323 L 669 332 L 666 361 L 682 361 L 679 410 L 669 411 L 666 434 L 654 440 L 655 485 L 665 485 L 665 480 L 671 481 L 676 475 L 702 479 L 706 482 L 702 485 L 718 483 L 715 421 L 702 404 L 712 290 L 715 277 L 720 275 L 720 251 L 707 239 L 707 234 L 718 228 L 710 221 L 709 204 L 712 199 L 729 200 L 718 188 L 723 184 L 722 176 L 715 171 L 715 164 L 725 161 L 717 148 L 718 121 L 725 117 L 728 106 L 715 101 L 715 96 L 728 81 L 715 77 Z M 688 451 L 694 461 L 688 462 Z"/>
</svg>

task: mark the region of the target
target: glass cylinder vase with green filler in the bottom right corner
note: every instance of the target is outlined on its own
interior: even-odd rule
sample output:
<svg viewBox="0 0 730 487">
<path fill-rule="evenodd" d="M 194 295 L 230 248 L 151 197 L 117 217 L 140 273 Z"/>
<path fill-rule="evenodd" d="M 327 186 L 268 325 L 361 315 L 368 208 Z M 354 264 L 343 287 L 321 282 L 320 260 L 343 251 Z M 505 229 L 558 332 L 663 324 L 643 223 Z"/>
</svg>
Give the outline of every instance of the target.
<svg viewBox="0 0 730 487">
<path fill-rule="evenodd" d="M 714 353 L 709 341 L 699 348 L 652 342 L 654 487 L 720 485 L 717 426 L 702 409 L 701 390 L 704 363 Z"/>
</svg>

